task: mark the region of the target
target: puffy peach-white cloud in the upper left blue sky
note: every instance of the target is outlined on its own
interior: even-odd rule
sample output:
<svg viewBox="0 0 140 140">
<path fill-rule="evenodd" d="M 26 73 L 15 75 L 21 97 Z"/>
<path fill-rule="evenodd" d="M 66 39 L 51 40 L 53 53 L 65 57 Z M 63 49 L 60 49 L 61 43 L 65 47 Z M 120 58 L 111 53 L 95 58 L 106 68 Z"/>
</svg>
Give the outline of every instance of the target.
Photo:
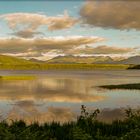
<svg viewBox="0 0 140 140">
<path fill-rule="evenodd" d="M 14 31 L 14 35 L 26 38 L 38 34 L 37 30 L 41 26 L 47 26 L 49 31 L 54 31 L 70 28 L 78 22 L 67 12 L 54 17 L 37 13 L 10 13 L 0 15 L 0 19 L 7 22 L 9 28 Z"/>
</svg>

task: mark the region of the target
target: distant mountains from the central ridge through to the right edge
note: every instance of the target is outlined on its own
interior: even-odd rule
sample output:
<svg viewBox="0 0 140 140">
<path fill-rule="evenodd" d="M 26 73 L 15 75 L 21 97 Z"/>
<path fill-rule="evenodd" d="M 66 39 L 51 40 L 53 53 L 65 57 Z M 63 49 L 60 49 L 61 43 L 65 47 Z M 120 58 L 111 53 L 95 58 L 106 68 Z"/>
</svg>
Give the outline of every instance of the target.
<svg viewBox="0 0 140 140">
<path fill-rule="evenodd" d="M 87 63 L 87 64 L 140 64 L 140 56 L 133 56 L 129 58 L 112 59 L 109 56 L 58 56 L 46 61 L 47 63 Z"/>
</svg>

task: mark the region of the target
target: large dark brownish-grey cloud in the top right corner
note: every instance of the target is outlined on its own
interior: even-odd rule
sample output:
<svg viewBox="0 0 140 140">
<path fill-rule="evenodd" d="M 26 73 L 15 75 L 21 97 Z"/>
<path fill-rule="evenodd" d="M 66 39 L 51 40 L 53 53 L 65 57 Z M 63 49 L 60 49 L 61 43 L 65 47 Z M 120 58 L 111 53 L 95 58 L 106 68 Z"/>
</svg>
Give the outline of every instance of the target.
<svg viewBox="0 0 140 140">
<path fill-rule="evenodd" d="M 115 29 L 140 30 L 139 1 L 87 1 L 80 10 L 84 23 Z"/>
</svg>

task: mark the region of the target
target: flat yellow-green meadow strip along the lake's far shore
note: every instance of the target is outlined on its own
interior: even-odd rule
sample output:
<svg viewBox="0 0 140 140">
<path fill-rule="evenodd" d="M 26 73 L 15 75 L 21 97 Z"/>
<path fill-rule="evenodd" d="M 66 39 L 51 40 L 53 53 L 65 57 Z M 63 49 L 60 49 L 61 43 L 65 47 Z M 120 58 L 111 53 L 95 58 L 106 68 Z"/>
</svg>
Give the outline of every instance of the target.
<svg viewBox="0 0 140 140">
<path fill-rule="evenodd" d="M 0 64 L 1 70 L 94 70 L 94 69 L 128 69 L 122 64 Z"/>
</svg>

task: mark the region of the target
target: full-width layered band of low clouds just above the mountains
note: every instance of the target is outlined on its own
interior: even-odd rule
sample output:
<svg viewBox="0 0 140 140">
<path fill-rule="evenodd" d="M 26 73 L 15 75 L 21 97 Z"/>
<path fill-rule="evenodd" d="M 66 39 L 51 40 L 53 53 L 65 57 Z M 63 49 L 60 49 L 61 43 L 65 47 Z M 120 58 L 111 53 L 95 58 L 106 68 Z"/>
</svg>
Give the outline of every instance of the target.
<svg viewBox="0 0 140 140">
<path fill-rule="evenodd" d="M 59 36 L 45 38 L 0 38 L 0 53 L 46 61 L 56 56 L 111 56 L 130 57 L 139 55 L 138 48 L 101 45 L 91 47 L 94 43 L 102 42 L 100 37 Z M 91 45 L 91 46 L 90 46 Z"/>
</svg>

